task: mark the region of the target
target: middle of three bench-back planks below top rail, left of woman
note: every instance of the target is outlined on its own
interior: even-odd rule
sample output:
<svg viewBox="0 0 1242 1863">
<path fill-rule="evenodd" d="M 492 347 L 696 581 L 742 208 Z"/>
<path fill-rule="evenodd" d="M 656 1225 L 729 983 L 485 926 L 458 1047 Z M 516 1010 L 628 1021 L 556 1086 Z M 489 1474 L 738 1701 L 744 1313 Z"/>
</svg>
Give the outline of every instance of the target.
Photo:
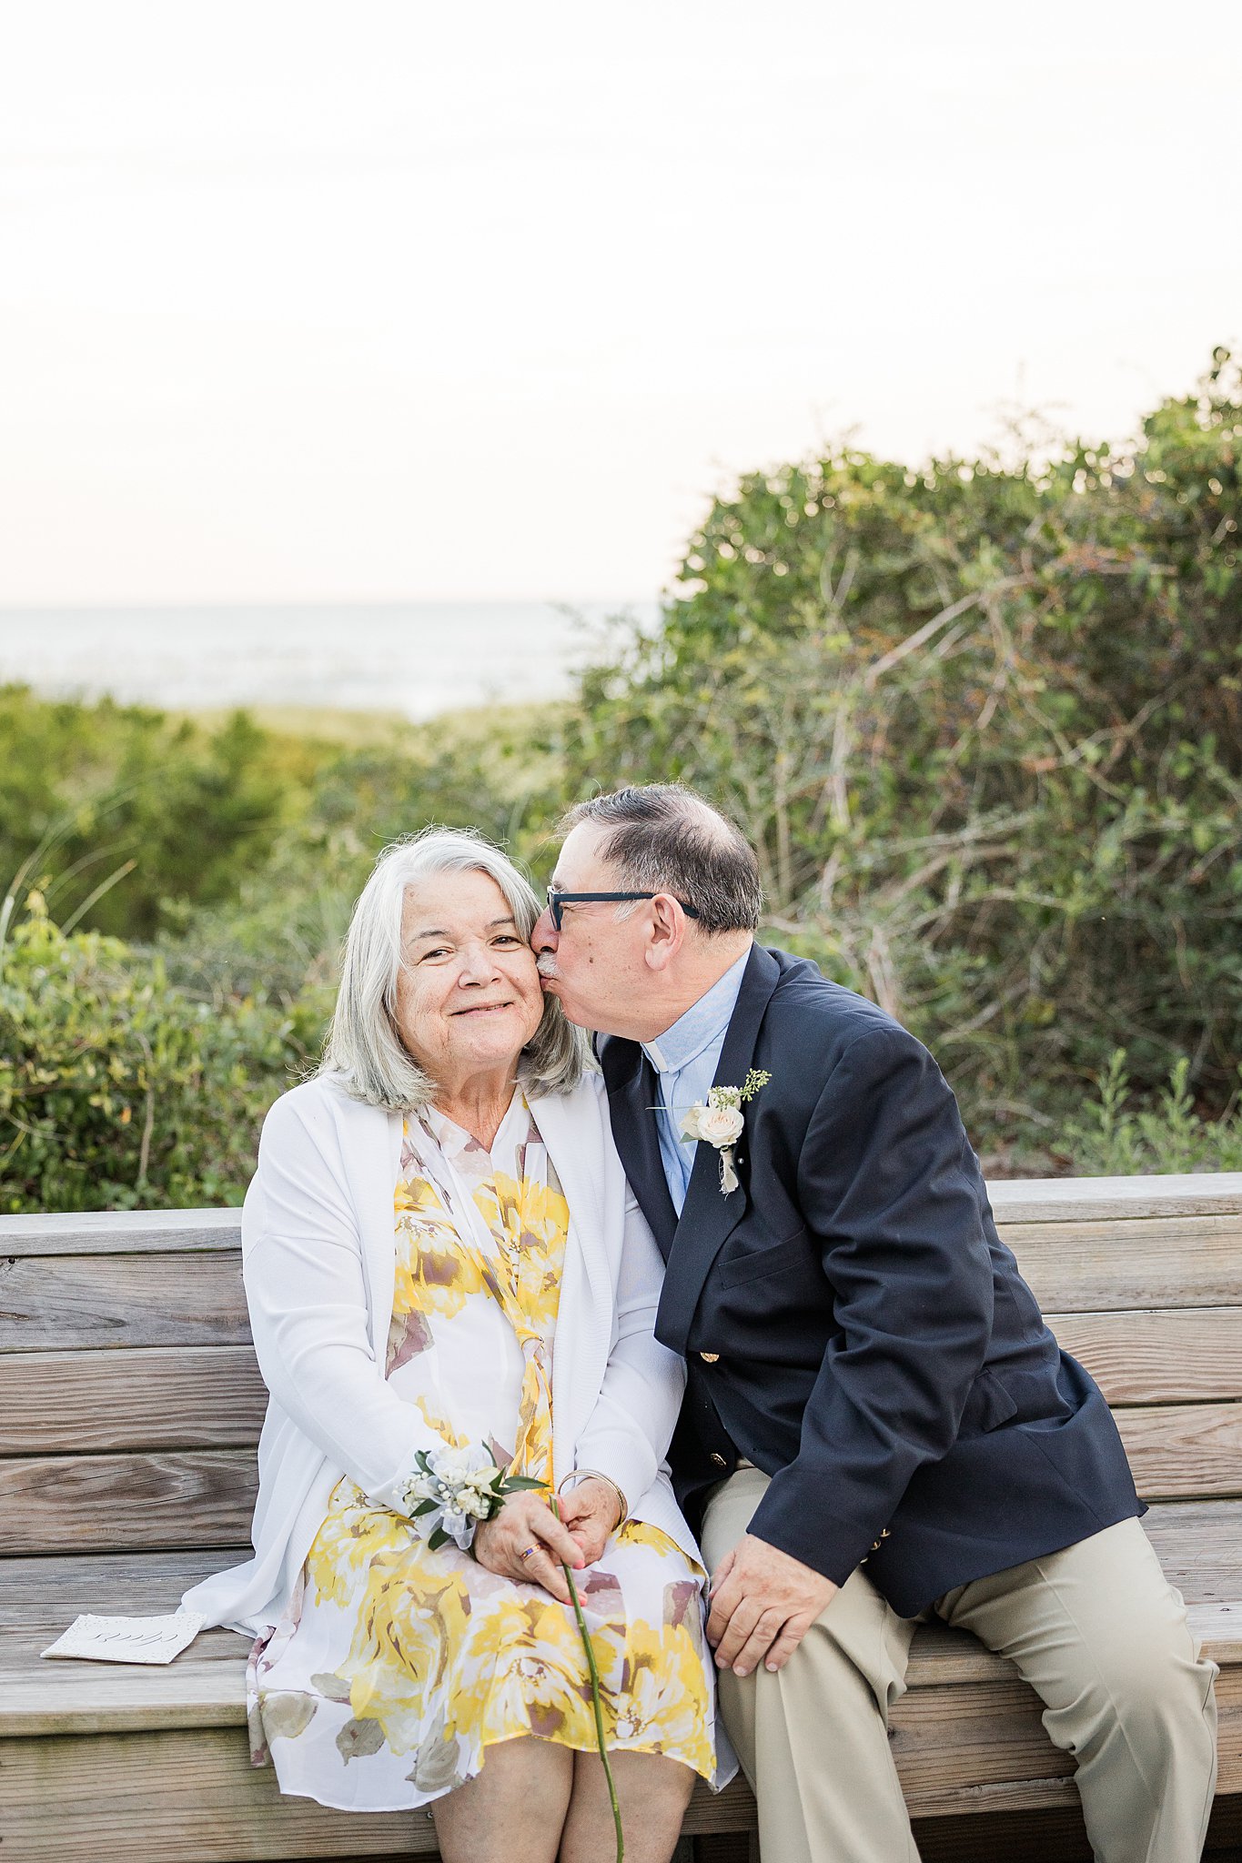
<svg viewBox="0 0 1242 1863">
<path fill-rule="evenodd" d="M 250 1345 L 0 1356 L 0 1455 L 236 1449 L 268 1394 Z"/>
</svg>

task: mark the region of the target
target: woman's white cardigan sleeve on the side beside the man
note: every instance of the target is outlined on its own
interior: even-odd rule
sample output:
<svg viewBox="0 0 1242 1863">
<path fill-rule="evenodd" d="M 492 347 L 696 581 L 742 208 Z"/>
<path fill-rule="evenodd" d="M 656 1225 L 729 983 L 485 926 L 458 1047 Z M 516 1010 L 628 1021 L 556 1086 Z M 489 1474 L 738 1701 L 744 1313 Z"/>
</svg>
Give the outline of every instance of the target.
<svg viewBox="0 0 1242 1863">
<path fill-rule="evenodd" d="M 594 1410 L 574 1446 L 574 1464 L 609 1475 L 633 1507 L 668 1451 L 685 1390 L 685 1362 L 655 1338 L 665 1263 L 629 1185 L 624 1194 L 613 1349 Z"/>
</svg>

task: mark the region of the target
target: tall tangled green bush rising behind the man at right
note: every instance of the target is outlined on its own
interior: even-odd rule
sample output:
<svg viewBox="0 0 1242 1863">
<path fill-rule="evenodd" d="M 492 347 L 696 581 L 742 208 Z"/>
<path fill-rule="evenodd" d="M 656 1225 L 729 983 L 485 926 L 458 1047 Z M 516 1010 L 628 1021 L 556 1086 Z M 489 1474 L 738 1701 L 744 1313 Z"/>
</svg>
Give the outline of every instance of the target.
<svg viewBox="0 0 1242 1863">
<path fill-rule="evenodd" d="M 1242 1047 L 1242 384 L 1127 447 L 750 475 L 663 630 L 583 686 L 570 792 L 680 777 L 769 932 L 937 1051 L 985 1144 L 1125 1045 L 1220 1108 Z"/>
</svg>

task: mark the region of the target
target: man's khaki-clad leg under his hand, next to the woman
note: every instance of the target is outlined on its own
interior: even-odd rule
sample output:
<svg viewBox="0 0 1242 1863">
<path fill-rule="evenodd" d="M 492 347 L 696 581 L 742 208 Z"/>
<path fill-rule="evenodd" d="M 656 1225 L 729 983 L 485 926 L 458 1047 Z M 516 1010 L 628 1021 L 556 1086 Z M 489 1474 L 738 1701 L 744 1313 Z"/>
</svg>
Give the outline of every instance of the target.
<svg viewBox="0 0 1242 1863">
<path fill-rule="evenodd" d="M 715 1571 L 750 1524 L 767 1475 L 743 1464 L 711 1496 Z M 842 1585 L 784 1669 L 719 1673 L 721 1712 L 760 1807 L 763 1863 L 918 1863 L 888 1751 L 914 1625 L 862 1572 Z"/>
</svg>

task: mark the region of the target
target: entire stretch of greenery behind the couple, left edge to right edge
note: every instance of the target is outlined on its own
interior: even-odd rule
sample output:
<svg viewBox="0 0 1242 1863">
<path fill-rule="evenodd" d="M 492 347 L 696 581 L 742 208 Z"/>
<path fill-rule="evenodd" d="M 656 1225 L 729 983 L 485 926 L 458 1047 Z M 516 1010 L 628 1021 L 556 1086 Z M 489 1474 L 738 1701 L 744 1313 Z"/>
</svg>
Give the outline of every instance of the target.
<svg viewBox="0 0 1242 1863">
<path fill-rule="evenodd" d="M 992 1168 L 1236 1164 L 1240 449 L 1218 350 L 1134 443 L 750 473 L 564 706 L 343 741 L 0 689 L 0 1207 L 235 1200 L 387 840 L 475 825 L 542 877 L 566 803 L 670 777 Z"/>
</svg>

